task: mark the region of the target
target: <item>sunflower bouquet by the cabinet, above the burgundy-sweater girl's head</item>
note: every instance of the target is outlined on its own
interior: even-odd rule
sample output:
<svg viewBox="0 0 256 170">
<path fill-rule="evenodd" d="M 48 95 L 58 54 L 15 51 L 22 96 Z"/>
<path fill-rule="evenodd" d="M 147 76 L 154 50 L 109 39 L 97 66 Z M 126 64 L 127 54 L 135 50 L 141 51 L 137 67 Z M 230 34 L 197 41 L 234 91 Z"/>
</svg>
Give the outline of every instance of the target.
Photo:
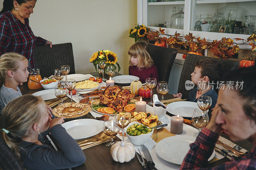
<svg viewBox="0 0 256 170">
<path fill-rule="evenodd" d="M 141 41 L 142 38 L 147 38 L 148 28 L 145 25 L 137 25 L 134 29 L 129 30 L 129 37 L 134 38 L 134 41 Z"/>
</svg>

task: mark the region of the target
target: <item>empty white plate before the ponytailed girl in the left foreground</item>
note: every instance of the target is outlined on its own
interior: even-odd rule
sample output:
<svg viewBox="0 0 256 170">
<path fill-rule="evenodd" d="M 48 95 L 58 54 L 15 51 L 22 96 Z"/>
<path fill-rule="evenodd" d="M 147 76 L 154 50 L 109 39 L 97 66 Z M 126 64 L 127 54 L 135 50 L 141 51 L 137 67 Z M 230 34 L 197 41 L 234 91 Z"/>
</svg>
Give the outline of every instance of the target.
<svg viewBox="0 0 256 170">
<path fill-rule="evenodd" d="M 77 119 L 62 124 L 68 134 L 78 140 L 97 135 L 102 131 L 103 122 L 96 119 Z"/>
</svg>

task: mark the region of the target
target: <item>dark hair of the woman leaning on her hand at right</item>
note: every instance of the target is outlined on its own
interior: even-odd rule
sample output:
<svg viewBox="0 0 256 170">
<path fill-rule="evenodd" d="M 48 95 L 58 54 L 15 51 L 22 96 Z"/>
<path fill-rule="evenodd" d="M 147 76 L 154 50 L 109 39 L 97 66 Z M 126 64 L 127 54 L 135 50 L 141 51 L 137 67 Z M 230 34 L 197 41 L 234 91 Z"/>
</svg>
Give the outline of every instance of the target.
<svg viewBox="0 0 256 170">
<path fill-rule="evenodd" d="M 230 71 L 223 76 L 222 81 L 225 81 L 226 85 L 234 83 L 234 90 L 243 99 L 245 114 L 256 122 L 256 66 Z M 241 86 L 236 87 L 236 82 Z"/>
</svg>

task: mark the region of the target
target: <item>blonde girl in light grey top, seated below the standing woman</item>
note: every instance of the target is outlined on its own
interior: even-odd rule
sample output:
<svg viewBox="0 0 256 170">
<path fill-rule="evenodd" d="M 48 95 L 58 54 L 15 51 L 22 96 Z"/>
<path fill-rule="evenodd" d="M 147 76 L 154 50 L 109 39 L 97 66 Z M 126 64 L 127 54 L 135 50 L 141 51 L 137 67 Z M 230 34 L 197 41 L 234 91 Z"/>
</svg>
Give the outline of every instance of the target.
<svg viewBox="0 0 256 170">
<path fill-rule="evenodd" d="M 4 106 L 21 96 L 18 85 L 28 80 L 28 60 L 18 53 L 5 53 L 0 57 L 0 113 Z"/>
</svg>

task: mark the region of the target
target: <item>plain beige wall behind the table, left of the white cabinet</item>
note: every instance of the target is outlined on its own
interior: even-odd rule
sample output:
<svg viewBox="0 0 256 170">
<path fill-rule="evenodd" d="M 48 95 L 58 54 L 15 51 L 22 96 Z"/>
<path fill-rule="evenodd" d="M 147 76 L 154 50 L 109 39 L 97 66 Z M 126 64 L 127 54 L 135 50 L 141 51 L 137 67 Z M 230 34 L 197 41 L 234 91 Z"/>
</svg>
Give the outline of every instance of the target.
<svg viewBox="0 0 256 170">
<path fill-rule="evenodd" d="M 127 51 L 134 43 L 128 31 L 136 23 L 136 0 L 38 0 L 29 18 L 36 36 L 72 43 L 76 73 L 94 72 L 90 57 L 108 49 L 117 54 L 120 73 L 128 74 Z"/>
</svg>

